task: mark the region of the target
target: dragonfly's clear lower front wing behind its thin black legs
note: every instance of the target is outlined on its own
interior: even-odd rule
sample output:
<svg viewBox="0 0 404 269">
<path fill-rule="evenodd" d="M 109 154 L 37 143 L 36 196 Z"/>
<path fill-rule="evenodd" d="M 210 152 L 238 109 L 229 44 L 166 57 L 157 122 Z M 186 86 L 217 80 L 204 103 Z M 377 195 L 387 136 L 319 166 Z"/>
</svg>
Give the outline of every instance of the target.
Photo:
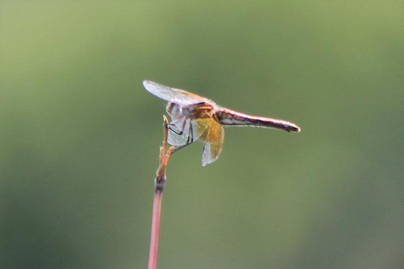
<svg viewBox="0 0 404 269">
<path fill-rule="evenodd" d="M 172 146 L 191 144 L 199 139 L 203 131 L 198 127 L 196 120 L 183 117 L 182 119 L 170 122 L 167 142 Z"/>
</svg>

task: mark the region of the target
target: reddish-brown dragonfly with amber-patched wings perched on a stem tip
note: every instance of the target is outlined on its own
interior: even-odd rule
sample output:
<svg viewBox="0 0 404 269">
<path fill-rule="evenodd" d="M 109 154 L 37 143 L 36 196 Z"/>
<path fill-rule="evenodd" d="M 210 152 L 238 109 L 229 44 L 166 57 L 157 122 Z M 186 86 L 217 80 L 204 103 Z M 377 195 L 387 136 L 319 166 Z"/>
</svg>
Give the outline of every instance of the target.
<svg viewBox="0 0 404 269">
<path fill-rule="evenodd" d="M 168 144 L 185 147 L 195 141 L 204 144 L 202 166 L 219 158 L 223 148 L 223 126 L 259 126 L 299 132 L 296 124 L 270 117 L 248 115 L 222 107 L 197 94 L 145 80 L 144 88 L 151 94 L 168 101 L 166 110 L 171 117 L 168 123 Z"/>
</svg>

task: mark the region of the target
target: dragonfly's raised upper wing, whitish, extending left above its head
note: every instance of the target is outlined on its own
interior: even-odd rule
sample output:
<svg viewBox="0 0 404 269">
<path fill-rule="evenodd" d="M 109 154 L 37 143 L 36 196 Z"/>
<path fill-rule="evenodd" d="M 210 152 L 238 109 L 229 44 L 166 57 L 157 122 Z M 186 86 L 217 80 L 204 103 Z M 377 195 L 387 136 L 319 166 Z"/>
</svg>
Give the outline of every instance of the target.
<svg viewBox="0 0 404 269">
<path fill-rule="evenodd" d="M 192 105 L 202 102 L 215 104 L 215 102 L 208 98 L 184 90 L 164 86 L 153 81 L 145 80 L 143 81 L 143 86 L 149 93 L 169 102 L 181 105 Z"/>
</svg>

